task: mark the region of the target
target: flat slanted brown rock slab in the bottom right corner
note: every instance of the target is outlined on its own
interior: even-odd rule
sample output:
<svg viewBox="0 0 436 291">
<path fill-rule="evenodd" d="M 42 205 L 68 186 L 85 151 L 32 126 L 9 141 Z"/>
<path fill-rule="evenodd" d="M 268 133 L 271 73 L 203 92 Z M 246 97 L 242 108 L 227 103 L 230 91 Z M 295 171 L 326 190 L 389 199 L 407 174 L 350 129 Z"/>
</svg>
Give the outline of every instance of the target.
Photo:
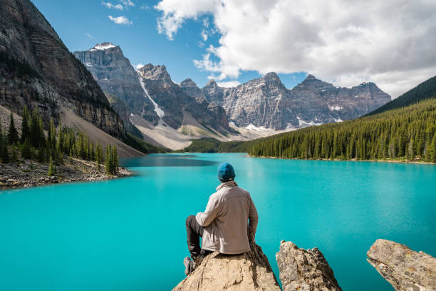
<svg viewBox="0 0 436 291">
<path fill-rule="evenodd" d="M 436 290 L 436 258 L 390 240 L 376 240 L 368 262 L 398 291 Z"/>
</svg>

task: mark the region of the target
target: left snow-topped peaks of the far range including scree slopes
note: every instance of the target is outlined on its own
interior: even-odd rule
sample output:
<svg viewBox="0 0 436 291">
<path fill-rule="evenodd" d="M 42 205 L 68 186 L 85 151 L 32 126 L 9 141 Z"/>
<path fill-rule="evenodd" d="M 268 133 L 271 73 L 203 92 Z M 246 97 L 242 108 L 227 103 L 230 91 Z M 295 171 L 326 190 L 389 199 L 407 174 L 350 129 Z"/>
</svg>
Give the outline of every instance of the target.
<svg viewBox="0 0 436 291">
<path fill-rule="evenodd" d="M 115 101 L 125 123 L 139 128 L 146 141 L 176 149 L 192 138 L 223 139 L 234 133 L 223 108 L 190 96 L 165 66 L 149 63 L 135 70 L 121 48 L 110 43 L 74 55 Z"/>
</svg>

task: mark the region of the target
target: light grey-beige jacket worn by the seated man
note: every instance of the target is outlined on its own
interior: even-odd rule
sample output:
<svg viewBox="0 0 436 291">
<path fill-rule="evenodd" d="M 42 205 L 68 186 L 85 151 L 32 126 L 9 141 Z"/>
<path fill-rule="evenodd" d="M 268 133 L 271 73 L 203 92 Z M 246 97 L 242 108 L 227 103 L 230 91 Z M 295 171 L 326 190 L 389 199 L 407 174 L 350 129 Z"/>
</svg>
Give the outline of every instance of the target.
<svg viewBox="0 0 436 291">
<path fill-rule="evenodd" d="M 249 252 L 249 240 L 254 241 L 256 234 L 257 210 L 250 193 L 236 182 L 219 185 L 217 192 L 210 195 L 206 210 L 195 218 L 204 227 L 204 250 L 231 255 Z"/>
</svg>

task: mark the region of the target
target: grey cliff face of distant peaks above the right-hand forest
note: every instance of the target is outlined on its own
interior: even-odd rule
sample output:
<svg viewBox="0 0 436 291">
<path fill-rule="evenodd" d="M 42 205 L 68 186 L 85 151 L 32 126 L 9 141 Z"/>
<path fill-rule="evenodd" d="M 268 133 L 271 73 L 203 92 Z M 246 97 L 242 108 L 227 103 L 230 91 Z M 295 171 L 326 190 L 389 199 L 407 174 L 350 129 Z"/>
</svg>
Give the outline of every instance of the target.
<svg viewBox="0 0 436 291">
<path fill-rule="evenodd" d="M 222 106 L 237 126 L 275 130 L 357 118 L 390 101 L 374 83 L 339 88 L 308 75 L 289 90 L 276 73 L 234 88 L 219 87 L 211 80 L 201 91 L 207 101 Z"/>
</svg>

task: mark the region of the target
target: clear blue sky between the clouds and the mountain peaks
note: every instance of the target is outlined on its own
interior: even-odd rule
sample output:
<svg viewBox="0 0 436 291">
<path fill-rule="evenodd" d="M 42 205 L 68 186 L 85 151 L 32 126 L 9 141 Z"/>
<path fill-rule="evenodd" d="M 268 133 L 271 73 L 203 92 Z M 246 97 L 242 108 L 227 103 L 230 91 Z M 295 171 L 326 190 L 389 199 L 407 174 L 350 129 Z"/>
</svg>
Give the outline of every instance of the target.
<svg viewBox="0 0 436 291">
<path fill-rule="evenodd" d="M 120 0 L 104 2 L 123 5 Z M 202 59 L 209 45 L 219 45 L 222 35 L 218 32 L 209 34 L 207 41 L 201 35 L 204 19 L 212 22 L 212 16 L 204 14 L 197 19 L 186 19 L 174 39 L 170 40 L 157 31 L 157 19 L 162 12 L 154 6 L 159 1 L 131 2 L 135 6 L 123 5 L 123 11 L 120 11 L 108 8 L 99 0 L 33 0 L 70 51 L 85 51 L 97 43 L 109 41 L 120 46 L 133 64 L 165 64 L 174 81 L 192 78 L 197 85 L 204 86 L 211 73 L 194 66 L 193 60 Z M 115 24 L 108 16 L 125 16 L 132 24 Z M 259 76 L 257 71 L 242 70 L 237 78 L 222 81 L 244 83 Z M 279 76 L 287 88 L 292 88 L 303 81 L 306 73 L 280 73 Z"/>
</svg>

